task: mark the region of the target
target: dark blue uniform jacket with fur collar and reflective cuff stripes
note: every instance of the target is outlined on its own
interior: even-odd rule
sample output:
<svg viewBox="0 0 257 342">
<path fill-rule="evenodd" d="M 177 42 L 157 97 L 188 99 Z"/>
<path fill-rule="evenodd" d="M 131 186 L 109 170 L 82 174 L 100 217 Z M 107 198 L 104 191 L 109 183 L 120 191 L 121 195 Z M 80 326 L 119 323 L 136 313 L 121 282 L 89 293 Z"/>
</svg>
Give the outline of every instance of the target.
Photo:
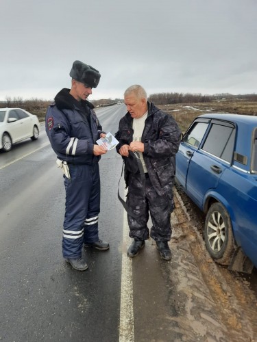
<svg viewBox="0 0 257 342">
<path fill-rule="evenodd" d="M 102 127 L 92 103 L 76 101 L 69 91 L 62 89 L 47 109 L 47 135 L 59 159 L 93 165 L 100 158 L 93 155 L 93 146 L 102 133 Z"/>
</svg>

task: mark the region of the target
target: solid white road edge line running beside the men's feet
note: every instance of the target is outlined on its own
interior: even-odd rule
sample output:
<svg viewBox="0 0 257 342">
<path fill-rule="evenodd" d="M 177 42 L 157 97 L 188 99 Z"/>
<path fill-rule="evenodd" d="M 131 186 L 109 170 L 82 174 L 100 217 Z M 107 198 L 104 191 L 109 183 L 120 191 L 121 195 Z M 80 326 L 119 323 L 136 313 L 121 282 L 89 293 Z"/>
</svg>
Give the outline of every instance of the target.
<svg viewBox="0 0 257 342">
<path fill-rule="evenodd" d="M 127 257 L 127 248 L 130 244 L 127 213 L 124 211 L 119 342 L 134 342 L 132 259 Z"/>
</svg>

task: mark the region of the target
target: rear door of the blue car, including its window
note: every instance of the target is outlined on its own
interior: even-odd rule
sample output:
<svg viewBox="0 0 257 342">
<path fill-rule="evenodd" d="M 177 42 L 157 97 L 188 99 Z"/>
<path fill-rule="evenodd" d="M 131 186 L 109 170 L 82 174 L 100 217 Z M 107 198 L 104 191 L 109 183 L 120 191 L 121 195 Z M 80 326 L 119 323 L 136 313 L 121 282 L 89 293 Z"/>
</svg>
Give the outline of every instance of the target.
<svg viewBox="0 0 257 342">
<path fill-rule="evenodd" d="M 191 157 L 186 190 L 201 209 L 206 192 L 217 187 L 224 170 L 232 163 L 235 134 L 232 123 L 212 120 L 199 149 Z"/>
</svg>

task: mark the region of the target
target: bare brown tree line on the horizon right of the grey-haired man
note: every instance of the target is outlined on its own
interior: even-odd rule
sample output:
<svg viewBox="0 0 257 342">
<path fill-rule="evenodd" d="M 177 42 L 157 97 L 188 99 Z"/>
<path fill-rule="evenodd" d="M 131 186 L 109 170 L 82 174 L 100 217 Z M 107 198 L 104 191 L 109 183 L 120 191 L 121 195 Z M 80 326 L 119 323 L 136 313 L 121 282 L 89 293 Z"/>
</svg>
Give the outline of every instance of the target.
<svg viewBox="0 0 257 342">
<path fill-rule="evenodd" d="M 215 94 L 215 95 L 202 95 L 191 94 L 182 92 L 162 92 L 158 94 L 151 94 L 149 101 L 154 102 L 156 105 L 171 105 L 175 103 L 204 103 L 217 100 L 245 100 L 257 101 L 257 94 L 246 95 L 232 95 L 232 94 Z"/>
</svg>

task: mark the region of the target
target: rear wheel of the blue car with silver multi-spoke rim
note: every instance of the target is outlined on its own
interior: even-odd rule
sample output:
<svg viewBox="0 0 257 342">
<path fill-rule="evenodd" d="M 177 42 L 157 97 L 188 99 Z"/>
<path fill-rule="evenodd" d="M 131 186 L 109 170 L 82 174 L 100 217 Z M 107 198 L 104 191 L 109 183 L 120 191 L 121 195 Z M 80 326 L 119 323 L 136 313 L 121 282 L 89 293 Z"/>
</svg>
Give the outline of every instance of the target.
<svg viewBox="0 0 257 342">
<path fill-rule="evenodd" d="M 229 265 L 234 252 L 234 236 L 230 215 L 221 203 L 214 203 L 206 215 L 204 227 L 206 248 L 212 259 L 221 265 Z"/>
</svg>

